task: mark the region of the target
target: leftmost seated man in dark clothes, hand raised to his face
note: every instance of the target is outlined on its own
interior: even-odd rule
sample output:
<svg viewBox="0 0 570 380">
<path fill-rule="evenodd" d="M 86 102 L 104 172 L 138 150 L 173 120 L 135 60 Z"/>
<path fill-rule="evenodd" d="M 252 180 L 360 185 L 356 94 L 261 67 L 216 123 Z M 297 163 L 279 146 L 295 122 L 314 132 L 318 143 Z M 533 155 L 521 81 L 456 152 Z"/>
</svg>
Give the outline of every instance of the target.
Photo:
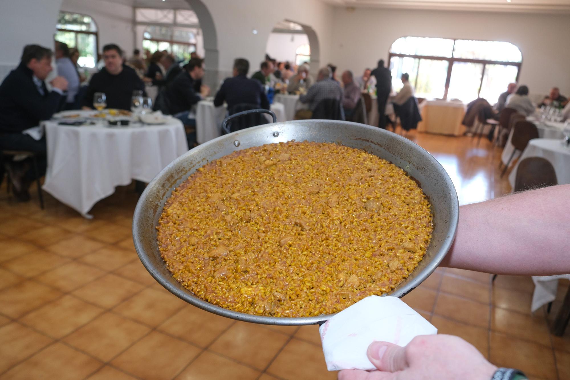
<svg viewBox="0 0 570 380">
<path fill-rule="evenodd" d="M 46 138 L 36 141 L 22 131 L 38 126 L 58 111 L 67 89 L 67 80 L 57 76 L 47 91 L 44 80 L 51 72 L 50 49 L 28 45 L 24 48 L 19 66 L 11 71 L 0 85 L 0 150 L 26 150 L 38 153 L 40 175 L 46 170 Z M 28 162 L 6 162 L 13 183 L 13 192 L 19 201 L 30 199 L 28 187 L 34 172 Z M 1 170 L 2 168 L 0 168 Z"/>
</svg>

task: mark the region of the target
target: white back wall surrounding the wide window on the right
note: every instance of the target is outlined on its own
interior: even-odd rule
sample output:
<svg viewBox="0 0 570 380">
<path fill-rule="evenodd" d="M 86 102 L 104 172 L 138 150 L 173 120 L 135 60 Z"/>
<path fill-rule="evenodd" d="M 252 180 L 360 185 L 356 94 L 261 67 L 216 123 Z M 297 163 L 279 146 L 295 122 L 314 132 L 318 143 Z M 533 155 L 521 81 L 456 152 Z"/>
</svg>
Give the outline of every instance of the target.
<svg viewBox="0 0 570 380">
<path fill-rule="evenodd" d="M 332 62 L 340 70 L 360 73 L 388 58 L 401 36 L 499 40 L 514 43 L 523 54 L 519 83 L 531 93 L 548 93 L 557 86 L 570 94 L 570 17 L 549 14 L 475 13 L 336 8 Z"/>
</svg>

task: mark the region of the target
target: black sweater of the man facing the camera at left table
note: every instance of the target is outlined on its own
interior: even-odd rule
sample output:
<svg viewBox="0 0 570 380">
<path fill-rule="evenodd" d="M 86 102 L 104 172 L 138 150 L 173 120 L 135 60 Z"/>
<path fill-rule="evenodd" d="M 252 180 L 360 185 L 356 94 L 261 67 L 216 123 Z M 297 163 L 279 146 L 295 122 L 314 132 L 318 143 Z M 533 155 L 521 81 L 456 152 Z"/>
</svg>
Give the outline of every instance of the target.
<svg viewBox="0 0 570 380">
<path fill-rule="evenodd" d="M 143 90 L 144 83 L 135 70 L 123 65 L 123 71 L 118 75 L 112 75 L 106 68 L 102 68 L 93 74 L 89 80 L 89 87 L 83 99 L 84 106 L 93 107 L 93 95 L 96 92 L 104 92 L 107 97 L 107 108 L 131 109 L 133 91 Z"/>
</svg>

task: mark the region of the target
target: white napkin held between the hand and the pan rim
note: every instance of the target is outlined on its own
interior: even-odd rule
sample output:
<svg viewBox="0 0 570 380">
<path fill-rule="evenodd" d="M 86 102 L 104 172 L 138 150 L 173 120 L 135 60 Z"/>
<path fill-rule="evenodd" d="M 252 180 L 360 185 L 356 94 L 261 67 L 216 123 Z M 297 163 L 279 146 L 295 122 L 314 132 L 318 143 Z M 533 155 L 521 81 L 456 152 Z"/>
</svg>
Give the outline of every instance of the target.
<svg viewBox="0 0 570 380">
<path fill-rule="evenodd" d="M 418 335 L 437 334 L 435 326 L 397 297 L 369 296 L 320 326 L 329 371 L 376 369 L 367 349 L 374 341 L 407 345 Z"/>
</svg>

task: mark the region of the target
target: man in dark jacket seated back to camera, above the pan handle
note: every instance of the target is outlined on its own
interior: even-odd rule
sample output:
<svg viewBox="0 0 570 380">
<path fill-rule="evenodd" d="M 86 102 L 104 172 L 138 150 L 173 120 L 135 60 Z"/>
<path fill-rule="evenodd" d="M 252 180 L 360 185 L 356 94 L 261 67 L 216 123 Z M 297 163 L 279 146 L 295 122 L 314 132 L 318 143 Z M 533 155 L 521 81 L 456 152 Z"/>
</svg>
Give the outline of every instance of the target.
<svg viewBox="0 0 570 380">
<path fill-rule="evenodd" d="M 248 71 L 247 59 L 238 58 L 234 61 L 234 76 L 223 81 L 215 95 L 214 107 L 220 107 L 223 102 L 226 102 L 227 110 L 230 112 L 238 104 L 251 104 L 269 109 L 269 100 L 267 100 L 265 90 L 259 81 L 247 77 Z"/>
</svg>

